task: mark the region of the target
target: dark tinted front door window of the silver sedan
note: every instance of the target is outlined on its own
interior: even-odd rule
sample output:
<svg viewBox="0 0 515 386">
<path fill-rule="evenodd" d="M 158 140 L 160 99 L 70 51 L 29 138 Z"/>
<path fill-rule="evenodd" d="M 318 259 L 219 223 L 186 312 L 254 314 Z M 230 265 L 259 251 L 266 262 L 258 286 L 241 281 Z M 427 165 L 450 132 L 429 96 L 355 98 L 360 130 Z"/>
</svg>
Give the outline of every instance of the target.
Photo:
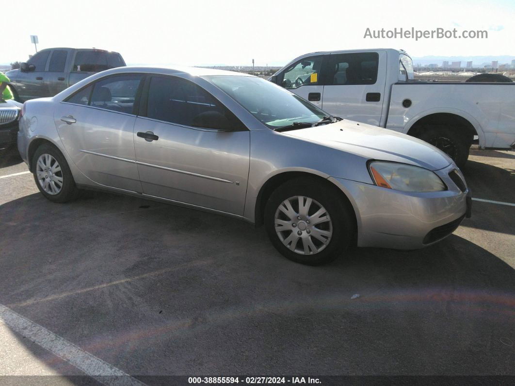
<svg viewBox="0 0 515 386">
<path fill-rule="evenodd" d="M 243 128 L 236 116 L 211 94 L 192 82 L 177 78 L 150 79 L 146 116 L 191 127 Z"/>
</svg>

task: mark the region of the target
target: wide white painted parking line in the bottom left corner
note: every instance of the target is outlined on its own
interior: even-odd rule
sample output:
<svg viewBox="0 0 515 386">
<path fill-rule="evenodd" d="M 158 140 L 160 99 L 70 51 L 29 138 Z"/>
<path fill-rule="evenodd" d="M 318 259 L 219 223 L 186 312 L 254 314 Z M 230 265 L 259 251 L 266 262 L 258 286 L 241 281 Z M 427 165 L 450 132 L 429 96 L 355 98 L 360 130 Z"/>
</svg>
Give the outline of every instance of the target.
<svg viewBox="0 0 515 386">
<path fill-rule="evenodd" d="M 57 357 L 71 363 L 100 383 L 108 385 L 144 385 L 138 379 L 102 361 L 93 354 L 87 353 L 59 335 L 48 331 L 43 326 L 28 320 L 26 317 L 1 304 L 0 318 L 12 330 L 22 334 Z"/>
</svg>

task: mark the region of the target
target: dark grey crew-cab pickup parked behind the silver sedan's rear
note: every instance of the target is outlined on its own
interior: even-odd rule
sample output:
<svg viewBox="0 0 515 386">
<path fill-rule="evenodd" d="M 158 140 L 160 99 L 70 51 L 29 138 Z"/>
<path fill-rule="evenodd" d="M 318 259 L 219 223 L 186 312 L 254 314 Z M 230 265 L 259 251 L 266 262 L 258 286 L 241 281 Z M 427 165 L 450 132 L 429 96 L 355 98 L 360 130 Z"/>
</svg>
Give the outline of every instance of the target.
<svg viewBox="0 0 515 386">
<path fill-rule="evenodd" d="M 96 48 L 46 48 L 6 73 L 14 99 L 54 96 L 91 74 L 125 66 L 120 54 Z"/>
</svg>

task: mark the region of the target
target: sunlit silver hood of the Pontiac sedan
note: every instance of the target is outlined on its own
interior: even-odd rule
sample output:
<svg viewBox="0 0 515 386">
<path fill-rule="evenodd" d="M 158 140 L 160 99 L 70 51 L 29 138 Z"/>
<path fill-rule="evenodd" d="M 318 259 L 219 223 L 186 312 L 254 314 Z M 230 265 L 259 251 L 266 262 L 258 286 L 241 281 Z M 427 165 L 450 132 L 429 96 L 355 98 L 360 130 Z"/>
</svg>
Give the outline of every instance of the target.
<svg viewBox="0 0 515 386">
<path fill-rule="evenodd" d="M 427 142 L 397 131 L 348 120 L 284 131 L 283 134 L 367 159 L 403 162 L 429 170 L 439 170 L 453 162 L 448 155 Z"/>
</svg>

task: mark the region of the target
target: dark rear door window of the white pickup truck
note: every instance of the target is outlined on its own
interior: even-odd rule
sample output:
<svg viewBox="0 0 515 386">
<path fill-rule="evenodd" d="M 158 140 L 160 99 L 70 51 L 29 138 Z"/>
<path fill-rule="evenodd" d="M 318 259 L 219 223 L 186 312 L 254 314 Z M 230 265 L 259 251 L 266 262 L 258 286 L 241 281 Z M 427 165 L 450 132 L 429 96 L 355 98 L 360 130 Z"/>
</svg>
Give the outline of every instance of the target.
<svg viewBox="0 0 515 386">
<path fill-rule="evenodd" d="M 378 64 L 376 52 L 333 54 L 328 67 L 328 85 L 373 85 Z"/>
</svg>

